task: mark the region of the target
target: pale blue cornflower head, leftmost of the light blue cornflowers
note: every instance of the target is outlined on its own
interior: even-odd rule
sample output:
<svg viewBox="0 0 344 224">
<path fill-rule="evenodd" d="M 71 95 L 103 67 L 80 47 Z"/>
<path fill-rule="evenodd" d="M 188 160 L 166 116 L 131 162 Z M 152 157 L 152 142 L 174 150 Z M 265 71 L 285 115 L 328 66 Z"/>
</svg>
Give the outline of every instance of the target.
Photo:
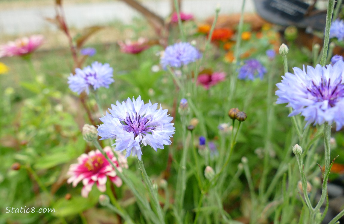
<svg viewBox="0 0 344 224">
<path fill-rule="evenodd" d="M 82 70 L 80 68 L 75 69 L 75 75 L 71 74 L 68 77 L 69 89 L 78 94 L 86 91 L 89 94 L 89 87 L 93 87 L 94 90 L 99 87 L 109 88 L 109 85 L 114 82 L 112 79 L 112 73 L 114 69 L 109 64 L 101 64 L 98 61 L 92 63 L 91 66 L 87 66 Z"/>
</svg>

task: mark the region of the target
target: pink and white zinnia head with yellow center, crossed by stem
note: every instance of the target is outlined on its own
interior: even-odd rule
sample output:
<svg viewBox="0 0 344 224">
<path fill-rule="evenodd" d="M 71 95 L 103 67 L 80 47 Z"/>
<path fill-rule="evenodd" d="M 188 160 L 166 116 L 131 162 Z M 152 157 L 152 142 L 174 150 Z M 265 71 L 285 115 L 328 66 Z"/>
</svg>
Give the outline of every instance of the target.
<svg viewBox="0 0 344 224">
<path fill-rule="evenodd" d="M 105 147 L 104 152 L 117 166 L 120 172 L 122 168 L 128 168 L 127 160 L 122 154 L 115 152 L 117 153 L 117 160 L 111 147 Z M 67 175 L 71 176 L 67 180 L 67 183 L 73 183 L 73 187 L 76 187 L 80 181 L 83 181 L 84 187 L 81 191 L 81 195 L 84 198 L 87 198 L 94 183 L 97 184 L 99 191 L 105 192 L 107 177 L 109 177 L 111 182 L 115 183 L 117 187 L 122 186 L 122 180 L 117 176 L 115 168 L 112 167 L 98 149 L 79 156 L 78 163 L 72 164 L 69 167 Z"/>
</svg>

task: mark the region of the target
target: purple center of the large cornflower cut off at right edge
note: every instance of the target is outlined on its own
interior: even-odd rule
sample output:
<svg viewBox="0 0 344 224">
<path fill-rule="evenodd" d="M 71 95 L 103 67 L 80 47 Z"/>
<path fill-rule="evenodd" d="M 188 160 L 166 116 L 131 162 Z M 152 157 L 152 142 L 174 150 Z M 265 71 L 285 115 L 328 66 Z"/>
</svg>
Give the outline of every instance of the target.
<svg viewBox="0 0 344 224">
<path fill-rule="evenodd" d="M 337 99 L 344 97 L 344 85 L 341 82 L 342 79 L 337 79 L 331 85 L 331 79 L 327 82 L 321 78 L 321 84 L 319 86 L 312 80 L 312 86 L 307 88 L 307 90 L 313 97 L 318 99 L 318 102 L 328 100 L 330 107 L 334 107 Z"/>
</svg>

